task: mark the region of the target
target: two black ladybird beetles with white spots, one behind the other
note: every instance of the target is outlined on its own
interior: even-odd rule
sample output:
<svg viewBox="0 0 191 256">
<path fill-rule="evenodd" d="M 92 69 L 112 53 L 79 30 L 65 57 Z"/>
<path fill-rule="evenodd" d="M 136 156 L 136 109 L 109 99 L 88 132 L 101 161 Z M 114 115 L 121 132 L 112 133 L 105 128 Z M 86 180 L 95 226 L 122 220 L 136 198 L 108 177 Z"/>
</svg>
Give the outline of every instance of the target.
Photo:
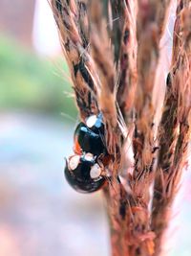
<svg viewBox="0 0 191 256">
<path fill-rule="evenodd" d="M 109 160 L 102 115 L 92 115 L 86 120 L 86 124 L 81 122 L 75 128 L 74 155 L 66 161 L 66 179 L 78 192 L 95 192 L 107 180 L 105 167 Z"/>
</svg>

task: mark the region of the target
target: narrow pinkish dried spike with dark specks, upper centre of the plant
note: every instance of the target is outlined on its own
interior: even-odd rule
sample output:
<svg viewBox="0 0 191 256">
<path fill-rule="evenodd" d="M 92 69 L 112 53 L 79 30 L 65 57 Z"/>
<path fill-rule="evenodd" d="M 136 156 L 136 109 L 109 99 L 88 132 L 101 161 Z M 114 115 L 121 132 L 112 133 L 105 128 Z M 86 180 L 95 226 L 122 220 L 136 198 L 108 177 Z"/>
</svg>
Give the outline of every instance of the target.
<svg viewBox="0 0 191 256">
<path fill-rule="evenodd" d="M 124 9 L 124 24 L 120 48 L 120 78 L 117 90 L 117 102 L 126 124 L 131 124 L 134 107 L 137 76 L 137 6 L 126 0 Z"/>
</svg>

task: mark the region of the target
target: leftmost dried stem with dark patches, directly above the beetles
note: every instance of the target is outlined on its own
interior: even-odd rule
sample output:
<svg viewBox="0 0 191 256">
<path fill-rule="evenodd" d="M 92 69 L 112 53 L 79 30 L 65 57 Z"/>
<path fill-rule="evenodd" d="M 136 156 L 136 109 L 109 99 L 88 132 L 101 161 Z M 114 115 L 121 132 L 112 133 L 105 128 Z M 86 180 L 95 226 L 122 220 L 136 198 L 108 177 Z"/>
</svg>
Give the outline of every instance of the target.
<svg viewBox="0 0 191 256">
<path fill-rule="evenodd" d="M 95 100 L 97 87 L 92 76 L 95 67 L 88 49 L 86 5 L 85 3 L 83 6 L 80 3 L 76 5 L 75 1 L 70 1 L 69 5 L 67 1 L 53 0 L 52 8 L 59 28 L 61 46 L 74 81 L 76 103 L 84 120 L 98 111 Z M 81 24 L 82 16 L 79 13 L 84 16 L 83 25 L 80 28 L 78 24 Z"/>
</svg>

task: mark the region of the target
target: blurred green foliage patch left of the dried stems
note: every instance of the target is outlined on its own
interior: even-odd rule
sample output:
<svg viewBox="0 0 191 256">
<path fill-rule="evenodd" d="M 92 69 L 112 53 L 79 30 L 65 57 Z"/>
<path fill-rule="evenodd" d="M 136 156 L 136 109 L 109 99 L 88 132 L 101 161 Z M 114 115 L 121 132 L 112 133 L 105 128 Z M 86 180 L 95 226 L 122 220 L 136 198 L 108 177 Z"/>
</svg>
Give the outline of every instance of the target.
<svg viewBox="0 0 191 256">
<path fill-rule="evenodd" d="M 36 110 L 75 117 L 67 74 L 63 58 L 42 59 L 11 39 L 0 37 L 0 109 Z"/>
</svg>

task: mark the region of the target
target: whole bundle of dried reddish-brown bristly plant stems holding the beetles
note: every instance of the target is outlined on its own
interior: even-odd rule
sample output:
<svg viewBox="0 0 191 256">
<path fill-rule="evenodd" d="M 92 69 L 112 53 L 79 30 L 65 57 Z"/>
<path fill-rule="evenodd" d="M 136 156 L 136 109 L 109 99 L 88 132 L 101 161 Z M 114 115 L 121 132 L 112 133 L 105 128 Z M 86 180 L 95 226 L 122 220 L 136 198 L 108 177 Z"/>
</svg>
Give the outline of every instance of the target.
<svg viewBox="0 0 191 256">
<path fill-rule="evenodd" d="M 158 256 L 187 160 L 191 109 L 191 1 L 178 0 L 159 125 L 153 91 L 170 0 L 51 0 L 85 122 L 103 115 L 103 188 L 112 255 Z M 159 78 L 158 78 L 159 79 Z M 159 82 L 157 83 L 159 84 Z M 131 163 L 129 153 L 133 151 Z"/>
</svg>

